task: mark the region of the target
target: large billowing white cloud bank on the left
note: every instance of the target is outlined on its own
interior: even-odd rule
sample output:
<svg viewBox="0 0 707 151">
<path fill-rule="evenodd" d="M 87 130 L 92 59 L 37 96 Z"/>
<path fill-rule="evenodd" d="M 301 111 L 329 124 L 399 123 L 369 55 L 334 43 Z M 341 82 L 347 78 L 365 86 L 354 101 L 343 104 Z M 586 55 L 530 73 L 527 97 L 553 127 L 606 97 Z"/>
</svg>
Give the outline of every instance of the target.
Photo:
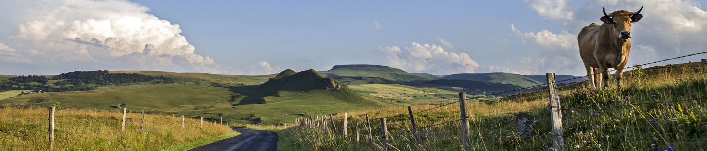
<svg viewBox="0 0 707 151">
<path fill-rule="evenodd" d="M 0 44 L 0 62 L 223 73 L 214 59 L 195 53 L 179 25 L 147 13 L 146 6 L 122 0 L 28 3 L 18 10 L 33 13 L 23 13 L 28 19 L 10 37 L 17 47 Z"/>
</svg>

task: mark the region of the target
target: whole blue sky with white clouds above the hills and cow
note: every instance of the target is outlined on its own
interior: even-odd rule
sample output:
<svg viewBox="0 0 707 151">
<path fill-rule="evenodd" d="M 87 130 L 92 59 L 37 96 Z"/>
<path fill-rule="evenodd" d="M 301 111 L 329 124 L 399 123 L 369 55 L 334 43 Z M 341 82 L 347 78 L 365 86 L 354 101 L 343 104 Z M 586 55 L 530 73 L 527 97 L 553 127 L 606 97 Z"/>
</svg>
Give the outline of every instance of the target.
<svg viewBox="0 0 707 151">
<path fill-rule="evenodd" d="M 11 14 L 0 16 L 0 74 L 266 75 L 375 64 L 436 75 L 585 75 L 576 38 L 601 23 L 602 7 L 644 6 L 632 66 L 707 52 L 704 2 L 0 0 L 0 14 Z"/>
</svg>

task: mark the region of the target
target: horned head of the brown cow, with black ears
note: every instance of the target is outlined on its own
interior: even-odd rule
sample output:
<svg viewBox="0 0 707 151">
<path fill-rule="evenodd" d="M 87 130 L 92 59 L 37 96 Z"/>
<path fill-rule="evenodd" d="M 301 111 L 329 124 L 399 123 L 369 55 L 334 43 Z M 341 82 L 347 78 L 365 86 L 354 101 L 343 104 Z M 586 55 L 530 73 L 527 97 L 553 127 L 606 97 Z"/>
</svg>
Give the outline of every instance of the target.
<svg viewBox="0 0 707 151">
<path fill-rule="evenodd" d="M 628 40 L 631 37 L 631 23 L 637 22 L 643 18 L 641 15 L 643 11 L 643 6 L 636 12 L 629 12 L 624 10 L 614 11 L 613 13 L 607 14 L 606 8 L 604 8 L 604 16 L 602 21 L 607 24 L 614 25 L 614 34 L 621 40 Z"/>
</svg>

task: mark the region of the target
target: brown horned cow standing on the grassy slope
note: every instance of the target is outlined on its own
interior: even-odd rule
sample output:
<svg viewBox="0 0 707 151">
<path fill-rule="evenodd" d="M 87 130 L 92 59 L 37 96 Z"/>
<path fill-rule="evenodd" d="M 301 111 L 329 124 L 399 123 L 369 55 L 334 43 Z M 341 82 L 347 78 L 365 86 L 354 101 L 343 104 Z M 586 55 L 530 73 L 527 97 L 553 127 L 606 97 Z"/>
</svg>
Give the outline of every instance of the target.
<svg viewBox="0 0 707 151">
<path fill-rule="evenodd" d="M 600 18 L 604 23 L 599 25 L 591 23 L 585 26 L 577 35 L 580 58 L 587 69 L 591 87 L 608 87 L 608 68 L 614 68 L 616 73 L 617 90 L 621 88 L 621 75 L 629 61 L 631 53 L 631 23 L 636 23 L 643 18 L 641 11 L 643 6 L 636 12 L 624 10 L 614 11 L 607 14 L 606 8 L 604 16 Z M 596 73 L 596 74 L 595 74 Z"/>
</svg>

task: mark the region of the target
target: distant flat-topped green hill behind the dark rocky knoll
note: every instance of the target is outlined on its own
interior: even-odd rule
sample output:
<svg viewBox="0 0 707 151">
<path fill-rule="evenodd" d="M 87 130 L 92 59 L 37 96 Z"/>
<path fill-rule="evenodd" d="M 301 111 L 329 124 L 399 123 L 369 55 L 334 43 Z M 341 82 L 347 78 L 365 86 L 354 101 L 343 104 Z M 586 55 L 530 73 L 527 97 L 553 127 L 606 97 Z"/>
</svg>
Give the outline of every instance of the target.
<svg viewBox="0 0 707 151">
<path fill-rule="evenodd" d="M 329 71 L 321 71 L 322 75 L 336 78 L 346 84 L 397 83 L 404 84 L 414 81 L 432 80 L 435 75 L 425 73 L 407 73 L 398 68 L 377 65 L 340 65 Z"/>
</svg>

